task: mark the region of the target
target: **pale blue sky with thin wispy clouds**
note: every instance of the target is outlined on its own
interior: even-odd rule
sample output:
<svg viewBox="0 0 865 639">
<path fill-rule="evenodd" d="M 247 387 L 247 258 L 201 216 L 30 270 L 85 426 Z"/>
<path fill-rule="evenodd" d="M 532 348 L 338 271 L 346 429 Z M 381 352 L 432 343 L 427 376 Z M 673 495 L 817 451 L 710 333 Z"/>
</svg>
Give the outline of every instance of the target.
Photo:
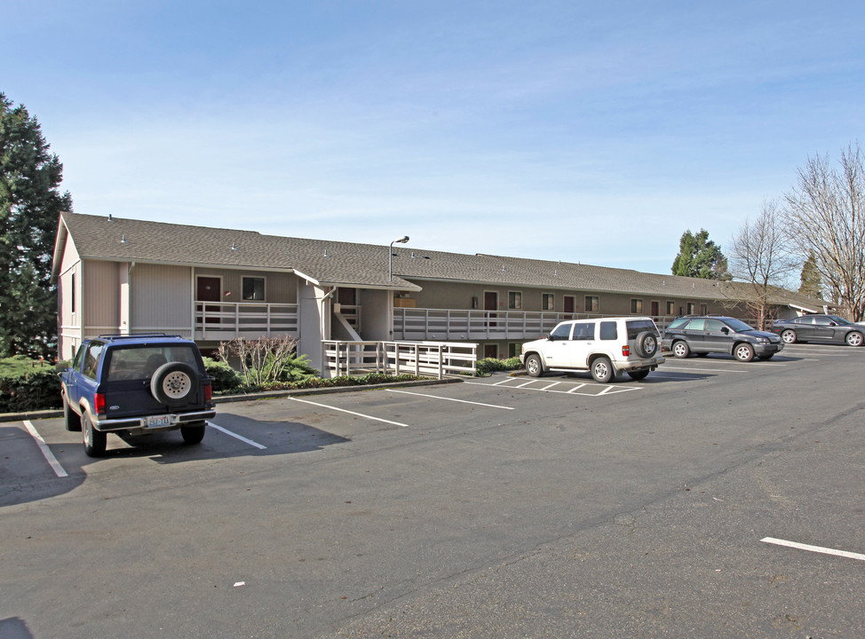
<svg viewBox="0 0 865 639">
<path fill-rule="evenodd" d="M 860 2 L 5 0 L 79 213 L 670 272 L 861 138 Z"/>
</svg>

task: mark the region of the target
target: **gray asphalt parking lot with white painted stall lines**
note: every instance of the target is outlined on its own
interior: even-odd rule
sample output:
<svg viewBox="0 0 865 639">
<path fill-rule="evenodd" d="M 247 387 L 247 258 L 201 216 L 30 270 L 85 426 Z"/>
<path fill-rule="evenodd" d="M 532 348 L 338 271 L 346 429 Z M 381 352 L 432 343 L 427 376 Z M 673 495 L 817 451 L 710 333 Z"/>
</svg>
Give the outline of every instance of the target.
<svg viewBox="0 0 865 639">
<path fill-rule="evenodd" d="M 865 348 L 0 423 L 0 637 L 865 636 Z"/>
</svg>

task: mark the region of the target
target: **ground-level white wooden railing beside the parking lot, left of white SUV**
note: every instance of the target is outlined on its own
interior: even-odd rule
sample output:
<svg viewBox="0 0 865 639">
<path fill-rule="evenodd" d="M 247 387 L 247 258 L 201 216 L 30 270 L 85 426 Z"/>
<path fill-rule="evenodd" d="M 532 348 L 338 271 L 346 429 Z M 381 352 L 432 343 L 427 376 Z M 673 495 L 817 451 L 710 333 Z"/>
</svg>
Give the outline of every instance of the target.
<svg viewBox="0 0 865 639">
<path fill-rule="evenodd" d="M 425 375 L 473 375 L 478 344 L 445 342 L 343 342 L 325 340 L 324 368 L 331 376 L 385 373 Z"/>
</svg>

